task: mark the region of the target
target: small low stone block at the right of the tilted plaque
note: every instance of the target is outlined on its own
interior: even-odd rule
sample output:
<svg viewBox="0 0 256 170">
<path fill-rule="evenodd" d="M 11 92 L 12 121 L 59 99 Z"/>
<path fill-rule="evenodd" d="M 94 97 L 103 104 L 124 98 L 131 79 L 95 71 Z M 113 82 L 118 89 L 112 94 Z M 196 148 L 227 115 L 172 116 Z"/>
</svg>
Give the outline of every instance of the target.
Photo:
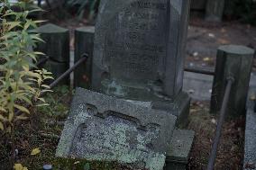
<svg viewBox="0 0 256 170">
<path fill-rule="evenodd" d="M 167 152 L 164 170 L 186 170 L 195 132 L 192 130 L 174 130 Z"/>
</svg>

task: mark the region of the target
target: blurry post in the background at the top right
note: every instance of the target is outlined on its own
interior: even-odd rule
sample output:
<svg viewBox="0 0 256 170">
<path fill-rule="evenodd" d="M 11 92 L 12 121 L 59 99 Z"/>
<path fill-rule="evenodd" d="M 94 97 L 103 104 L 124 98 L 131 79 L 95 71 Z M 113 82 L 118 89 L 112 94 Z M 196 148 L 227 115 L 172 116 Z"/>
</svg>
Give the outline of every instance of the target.
<svg viewBox="0 0 256 170">
<path fill-rule="evenodd" d="M 206 21 L 221 22 L 224 13 L 224 0 L 207 0 Z"/>
</svg>

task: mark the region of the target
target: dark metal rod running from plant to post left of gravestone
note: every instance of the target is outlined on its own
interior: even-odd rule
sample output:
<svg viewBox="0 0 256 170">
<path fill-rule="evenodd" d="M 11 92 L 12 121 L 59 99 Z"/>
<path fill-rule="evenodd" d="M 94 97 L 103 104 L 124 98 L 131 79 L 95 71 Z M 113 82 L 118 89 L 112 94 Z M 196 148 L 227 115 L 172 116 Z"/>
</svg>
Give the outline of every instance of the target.
<svg viewBox="0 0 256 170">
<path fill-rule="evenodd" d="M 66 76 L 69 76 L 70 73 L 72 73 L 78 66 L 80 66 L 83 62 L 85 62 L 88 58 L 87 54 L 83 55 L 83 58 L 80 58 L 78 62 L 74 64 L 74 66 L 70 67 L 65 73 L 63 73 L 59 78 L 57 78 L 54 82 L 52 82 L 49 86 L 50 88 L 56 86 L 59 84 L 59 82 L 65 78 Z"/>
</svg>

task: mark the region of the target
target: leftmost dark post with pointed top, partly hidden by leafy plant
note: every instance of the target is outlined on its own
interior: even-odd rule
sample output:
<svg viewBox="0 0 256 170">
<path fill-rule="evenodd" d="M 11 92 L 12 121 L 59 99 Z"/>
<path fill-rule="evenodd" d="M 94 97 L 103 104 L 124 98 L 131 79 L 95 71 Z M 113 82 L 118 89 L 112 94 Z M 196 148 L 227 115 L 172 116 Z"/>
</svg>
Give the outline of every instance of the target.
<svg viewBox="0 0 256 170">
<path fill-rule="evenodd" d="M 48 23 L 42 25 L 35 32 L 41 34 L 40 42 L 35 49 L 48 56 L 50 59 L 45 66 L 53 77 L 59 77 L 69 69 L 69 30 Z M 62 85 L 69 85 L 69 77 L 62 81 Z"/>
</svg>

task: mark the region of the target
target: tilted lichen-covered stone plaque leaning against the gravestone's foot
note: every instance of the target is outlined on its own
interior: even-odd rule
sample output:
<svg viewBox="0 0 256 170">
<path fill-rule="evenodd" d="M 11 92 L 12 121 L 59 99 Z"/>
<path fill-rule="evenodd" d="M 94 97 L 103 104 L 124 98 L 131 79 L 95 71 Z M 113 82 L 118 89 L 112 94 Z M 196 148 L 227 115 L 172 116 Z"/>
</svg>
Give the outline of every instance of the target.
<svg viewBox="0 0 256 170">
<path fill-rule="evenodd" d="M 56 156 L 160 170 L 175 123 L 169 112 L 78 88 Z"/>
</svg>

